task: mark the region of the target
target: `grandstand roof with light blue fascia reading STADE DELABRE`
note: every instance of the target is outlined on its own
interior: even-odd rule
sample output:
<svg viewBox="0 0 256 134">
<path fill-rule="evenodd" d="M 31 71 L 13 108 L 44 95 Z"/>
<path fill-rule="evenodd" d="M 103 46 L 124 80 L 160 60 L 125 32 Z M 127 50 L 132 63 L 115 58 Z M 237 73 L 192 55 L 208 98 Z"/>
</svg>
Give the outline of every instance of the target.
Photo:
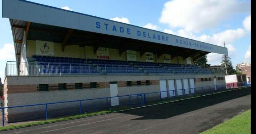
<svg viewBox="0 0 256 134">
<path fill-rule="evenodd" d="M 25 0 L 3 0 L 2 16 L 10 19 L 17 61 L 24 31 L 27 39 L 62 43 L 63 51 L 67 45 L 90 44 L 94 50 L 116 48 L 120 54 L 136 50 L 193 59 L 228 54 L 226 47 Z"/>
</svg>

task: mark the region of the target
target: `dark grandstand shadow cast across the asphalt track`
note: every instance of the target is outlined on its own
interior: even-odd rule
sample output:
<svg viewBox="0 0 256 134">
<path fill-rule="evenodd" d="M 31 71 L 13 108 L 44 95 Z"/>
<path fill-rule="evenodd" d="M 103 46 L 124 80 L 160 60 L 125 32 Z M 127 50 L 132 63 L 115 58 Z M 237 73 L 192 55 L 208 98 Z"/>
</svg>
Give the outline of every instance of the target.
<svg viewBox="0 0 256 134">
<path fill-rule="evenodd" d="M 141 118 L 136 118 L 133 120 L 166 119 L 249 94 L 251 94 L 251 87 L 237 89 L 229 92 L 217 93 L 208 96 L 196 97 L 193 99 L 187 99 L 177 102 L 159 104 L 150 107 L 121 111 L 120 113 L 142 116 Z"/>
</svg>

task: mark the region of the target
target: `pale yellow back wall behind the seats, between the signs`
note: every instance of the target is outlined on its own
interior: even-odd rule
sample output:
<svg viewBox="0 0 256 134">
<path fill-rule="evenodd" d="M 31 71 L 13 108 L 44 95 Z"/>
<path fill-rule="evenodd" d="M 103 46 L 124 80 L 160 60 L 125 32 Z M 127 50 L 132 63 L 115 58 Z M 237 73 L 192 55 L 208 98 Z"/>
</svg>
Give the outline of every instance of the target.
<svg viewBox="0 0 256 134">
<path fill-rule="evenodd" d="M 27 40 L 27 57 L 31 58 L 33 55 L 36 55 L 36 45 L 34 40 Z M 72 57 L 72 58 L 91 58 L 96 59 L 97 53 L 95 54 L 93 51 L 93 46 L 84 46 L 79 47 L 79 45 L 70 45 L 66 46 L 64 52 L 61 51 L 61 43 L 54 43 L 54 56 L 56 57 Z M 157 59 L 157 55 L 153 54 L 154 62 L 164 63 L 163 62 L 163 54 Z M 189 57 L 191 58 L 191 57 Z M 118 49 L 109 49 L 109 59 L 110 60 L 122 60 L 126 61 L 126 51 L 124 51 L 121 55 L 119 55 Z M 136 61 L 146 62 L 146 55 L 143 54 L 140 57 L 140 52 L 136 51 Z M 192 64 L 193 59 L 191 58 Z M 173 64 L 187 64 L 186 59 L 184 60 L 182 57 L 174 57 L 170 63 Z"/>
</svg>

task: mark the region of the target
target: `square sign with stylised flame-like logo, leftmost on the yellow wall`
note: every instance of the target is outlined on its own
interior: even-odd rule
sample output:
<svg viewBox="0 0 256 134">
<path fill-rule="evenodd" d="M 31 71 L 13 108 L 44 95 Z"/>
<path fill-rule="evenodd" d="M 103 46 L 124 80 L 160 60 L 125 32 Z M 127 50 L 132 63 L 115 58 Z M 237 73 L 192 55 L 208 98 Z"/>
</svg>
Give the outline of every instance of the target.
<svg viewBox="0 0 256 134">
<path fill-rule="evenodd" d="M 35 41 L 37 55 L 54 55 L 53 42 Z"/>
</svg>

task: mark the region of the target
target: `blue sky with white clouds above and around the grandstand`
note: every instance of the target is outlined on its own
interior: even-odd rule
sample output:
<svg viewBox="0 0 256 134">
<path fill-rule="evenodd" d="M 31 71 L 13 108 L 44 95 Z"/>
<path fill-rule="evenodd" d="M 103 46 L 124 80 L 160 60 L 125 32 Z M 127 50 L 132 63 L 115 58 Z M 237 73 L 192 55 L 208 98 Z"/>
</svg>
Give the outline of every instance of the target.
<svg viewBox="0 0 256 134">
<path fill-rule="evenodd" d="M 1 0 L 0 0 L 1 1 Z M 75 12 L 221 45 L 233 65 L 251 62 L 250 0 L 29 0 Z M 0 14 L 2 1 L 0 2 Z M 15 61 L 10 22 L 0 18 L 0 77 L 6 61 Z M 219 65 L 220 54 L 208 54 Z"/>
</svg>

